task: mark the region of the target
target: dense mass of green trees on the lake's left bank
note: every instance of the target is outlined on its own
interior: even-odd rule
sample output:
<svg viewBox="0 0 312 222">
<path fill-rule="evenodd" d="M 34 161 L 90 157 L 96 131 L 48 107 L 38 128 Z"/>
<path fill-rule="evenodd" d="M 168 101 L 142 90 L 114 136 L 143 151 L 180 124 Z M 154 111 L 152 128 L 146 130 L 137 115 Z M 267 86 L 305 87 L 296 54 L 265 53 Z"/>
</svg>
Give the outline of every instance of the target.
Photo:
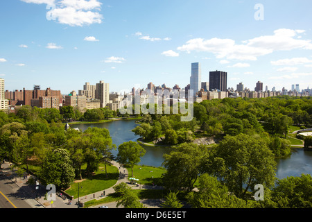
<svg viewBox="0 0 312 222">
<path fill-rule="evenodd" d="M 75 178 L 81 179 L 83 172 L 90 176 L 100 162 L 112 159 L 115 145 L 107 129 L 65 130 L 63 115 L 64 110 L 28 106 L 16 114 L 0 112 L 0 161 L 10 160 L 27 171 L 29 162 L 35 162 L 40 167 L 36 176 L 42 182 L 66 188 Z"/>
</svg>

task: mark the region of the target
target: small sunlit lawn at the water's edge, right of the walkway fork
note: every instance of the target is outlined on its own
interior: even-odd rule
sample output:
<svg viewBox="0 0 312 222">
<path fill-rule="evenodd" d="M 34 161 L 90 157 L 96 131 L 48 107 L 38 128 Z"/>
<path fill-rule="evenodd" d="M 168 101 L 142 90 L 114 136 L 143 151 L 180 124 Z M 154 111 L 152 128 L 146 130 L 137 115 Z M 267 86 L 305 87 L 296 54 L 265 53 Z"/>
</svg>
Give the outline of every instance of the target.
<svg viewBox="0 0 312 222">
<path fill-rule="evenodd" d="M 129 178 L 133 177 L 139 179 L 138 183 L 141 185 L 162 185 L 162 174 L 166 169 L 162 167 L 146 167 L 135 165 L 133 167 L 133 176 L 131 174 L 131 167 L 127 167 Z"/>
</svg>

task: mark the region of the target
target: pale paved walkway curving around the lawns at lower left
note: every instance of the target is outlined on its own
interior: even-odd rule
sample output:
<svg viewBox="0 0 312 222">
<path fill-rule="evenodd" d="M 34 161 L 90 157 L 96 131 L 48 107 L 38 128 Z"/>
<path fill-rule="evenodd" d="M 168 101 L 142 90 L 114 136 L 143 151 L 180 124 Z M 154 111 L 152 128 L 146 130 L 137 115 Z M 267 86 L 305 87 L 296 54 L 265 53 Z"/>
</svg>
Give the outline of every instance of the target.
<svg viewBox="0 0 312 222">
<path fill-rule="evenodd" d="M 125 182 L 132 189 L 162 189 L 162 187 L 153 187 L 153 186 L 147 186 L 147 185 L 131 185 L 129 180 L 128 180 L 128 170 L 121 166 L 118 162 L 112 161 L 111 162 L 115 167 L 119 169 L 119 179 L 117 180 L 115 185 L 119 185 L 121 182 Z M 1 165 L 3 171 L 3 174 L 13 182 L 15 182 L 20 189 L 25 191 L 29 199 L 27 200 L 28 203 L 33 205 L 33 207 L 45 207 L 45 208 L 78 208 L 78 198 L 71 200 L 71 204 L 69 204 L 68 199 L 62 199 L 59 196 L 55 195 L 56 200 L 53 201 L 51 204 L 51 200 L 44 200 L 44 196 L 46 194 L 46 187 L 40 185 L 39 189 L 35 189 L 35 185 L 27 185 L 26 181 L 28 178 L 23 178 L 23 177 L 17 177 L 16 173 L 14 173 L 14 176 L 12 178 L 12 170 L 10 169 L 10 162 L 5 162 L 4 164 Z M 114 186 L 105 189 L 105 196 L 103 196 L 103 191 L 98 191 L 94 194 L 88 194 L 87 196 L 80 196 L 79 200 L 80 203 L 85 203 L 89 200 L 99 200 L 101 198 L 105 198 L 107 195 L 114 193 Z M 37 198 L 36 198 L 37 197 Z"/>
</svg>

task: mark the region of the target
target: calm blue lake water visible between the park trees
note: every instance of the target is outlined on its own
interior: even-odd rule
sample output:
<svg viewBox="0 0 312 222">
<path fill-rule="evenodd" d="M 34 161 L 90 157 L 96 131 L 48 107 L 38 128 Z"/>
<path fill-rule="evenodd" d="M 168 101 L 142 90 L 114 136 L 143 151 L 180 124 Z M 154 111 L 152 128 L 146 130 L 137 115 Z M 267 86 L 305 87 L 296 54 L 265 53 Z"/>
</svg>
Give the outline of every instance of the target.
<svg viewBox="0 0 312 222">
<path fill-rule="evenodd" d="M 118 148 L 120 144 L 128 141 L 137 141 L 138 135 L 135 135 L 131 130 L 137 126 L 134 120 L 119 120 L 109 123 L 88 123 L 75 124 L 72 128 L 79 128 L 85 131 L 89 127 L 107 128 L 110 130 L 112 142 Z M 171 148 L 164 148 L 162 146 L 145 146 L 146 154 L 141 157 L 139 164 L 144 164 L 153 167 L 161 167 L 164 162 L 164 153 L 170 153 Z M 112 151 L 116 156 L 118 151 Z M 312 174 L 312 151 L 304 151 L 303 149 L 294 149 L 290 157 L 278 159 L 277 161 L 277 178 L 286 178 L 287 176 L 301 176 L 304 174 Z"/>
</svg>

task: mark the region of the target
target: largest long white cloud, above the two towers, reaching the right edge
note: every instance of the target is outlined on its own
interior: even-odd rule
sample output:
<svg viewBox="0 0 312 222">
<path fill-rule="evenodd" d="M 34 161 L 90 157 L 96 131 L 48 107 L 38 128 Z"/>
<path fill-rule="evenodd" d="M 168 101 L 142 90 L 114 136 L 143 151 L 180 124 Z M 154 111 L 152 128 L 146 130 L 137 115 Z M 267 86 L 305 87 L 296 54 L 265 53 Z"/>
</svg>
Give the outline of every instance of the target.
<svg viewBox="0 0 312 222">
<path fill-rule="evenodd" d="M 179 46 L 177 50 L 214 53 L 216 58 L 227 60 L 257 60 L 259 56 L 266 56 L 274 51 L 288 51 L 293 49 L 312 50 L 311 40 L 298 40 L 295 38 L 298 33 L 291 29 L 281 28 L 274 31 L 273 35 L 255 37 L 251 40 L 241 41 L 236 44 L 231 39 L 220 39 L 217 37 L 205 40 L 195 38 Z"/>
</svg>

